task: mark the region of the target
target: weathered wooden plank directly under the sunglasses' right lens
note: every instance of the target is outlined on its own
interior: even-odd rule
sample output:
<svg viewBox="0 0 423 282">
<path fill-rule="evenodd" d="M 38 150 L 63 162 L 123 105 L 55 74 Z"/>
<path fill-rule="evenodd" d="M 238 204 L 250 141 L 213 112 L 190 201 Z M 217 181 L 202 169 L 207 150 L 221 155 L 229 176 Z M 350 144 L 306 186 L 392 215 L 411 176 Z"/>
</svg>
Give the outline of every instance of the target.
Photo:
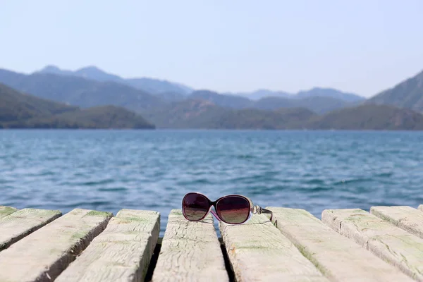
<svg viewBox="0 0 423 282">
<path fill-rule="evenodd" d="M 219 228 L 237 281 L 329 281 L 264 214 Z"/>
</svg>

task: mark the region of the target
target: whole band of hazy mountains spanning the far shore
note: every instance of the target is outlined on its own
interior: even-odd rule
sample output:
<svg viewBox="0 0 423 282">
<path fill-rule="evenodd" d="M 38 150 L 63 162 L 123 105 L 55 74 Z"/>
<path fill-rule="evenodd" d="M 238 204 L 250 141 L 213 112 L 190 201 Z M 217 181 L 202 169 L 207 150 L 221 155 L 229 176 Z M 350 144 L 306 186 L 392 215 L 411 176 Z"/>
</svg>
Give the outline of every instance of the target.
<svg viewBox="0 0 423 282">
<path fill-rule="evenodd" d="M 52 73 L 61 72 L 51 67 Z M 422 109 L 423 72 L 401 82 L 369 100 L 349 98 L 339 99 L 338 90 L 314 88 L 312 92 L 300 92 L 297 97 L 263 97 L 258 100 L 232 94 L 219 94 L 209 90 L 197 90 L 185 96 L 180 92 L 149 94 L 120 82 L 110 81 L 97 72 L 97 80 L 92 80 L 91 71 L 85 68 L 80 75 L 34 73 L 24 75 L 0 70 L 0 82 L 17 90 L 35 94 L 37 97 L 63 102 L 37 102 L 32 98 L 23 99 L 18 95 L 18 104 L 5 107 L 3 125 L 13 127 L 13 118 L 18 125 L 27 127 L 63 126 L 127 126 L 120 123 L 140 116 L 123 109 L 142 113 L 159 128 L 224 128 L 224 129 L 373 129 L 373 130 L 422 130 L 422 114 L 412 109 Z M 109 75 L 109 74 L 106 74 Z M 116 76 L 117 77 L 117 76 Z M 114 78 L 116 80 L 120 78 Z M 107 78 L 107 80 L 105 80 Z M 104 80 L 103 82 L 100 80 Z M 261 90 L 262 94 L 265 90 Z M 327 96 L 316 96 L 326 92 Z M 343 93 L 345 94 L 345 93 Z M 282 93 L 283 95 L 283 93 Z M 4 101 L 10 102 L 5 95 Z M 383 99 L 381 99 L 383 98 Z M 31 100 L 32 99 L 32 100 Z M 356 99 L 345 101 L 345 99 Z M 33 107 L 32 102 L 39 106 Z M 26 103 L 26 104 L 25 104 Z M 29 103 L 29 104 L 27 104 Z M 54 103 L 54 104 L 51 104 Z M 79 109 L 75 106 L 92 107 Z M 411 109 L 388 106 L 389 103 Z M 115 106 L 106 106 L 113 104 Z M 386 105 L 388 104 L 388 105 Z M 18 105 L 18 106 L 17 106 Z M 43 106 L 44 105 L 44 106 Z M 116 107 L 117 106 L 117 107 Z M 13 108 L 14 107 L 14 108 Z M 8 108 L 8 109 L 6 109 Z M 13 111 L 9 111 L 13 109 Z M 74 116 L 74 114 L 77 116 Z M 14 116 L 13 116 L 14 115 Z M 6 118 L 7 121 L 6 121 Z M 22 123 L 21 121 L 25 121 Z M 128 126 L 139 126 L 147 121 L 132 120 Z M 147 125 L 146 125 L 147 126 Z M 154 126 L 154 125 L 152 125 Z"/>
</svg>

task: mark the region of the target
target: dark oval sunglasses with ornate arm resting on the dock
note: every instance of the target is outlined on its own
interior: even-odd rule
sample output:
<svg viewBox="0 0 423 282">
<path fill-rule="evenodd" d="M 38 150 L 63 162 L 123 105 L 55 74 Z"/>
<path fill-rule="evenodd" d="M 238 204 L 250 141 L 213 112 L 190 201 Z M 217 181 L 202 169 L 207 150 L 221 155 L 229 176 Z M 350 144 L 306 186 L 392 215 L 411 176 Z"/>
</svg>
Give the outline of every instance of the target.
<svg viewBox="0 0 423 282">
<path fill-rule="evenodd" d="M 212 207 L 216 213 L 211 210 Z M 252 214 L 270 214 L 270 221 L 273 219 L 271 210 L 255 206 L 250 199 L 242 195 L 227 195 L 212 202 L 200 193 L 189 192 L 183 197 L 182 212 L 189 221 L 200 221 L 209 212 L 219 221 L 228 224 L 245 223 Z M 276 221 L 275 225 L 277 226 Z"/>
</svg>

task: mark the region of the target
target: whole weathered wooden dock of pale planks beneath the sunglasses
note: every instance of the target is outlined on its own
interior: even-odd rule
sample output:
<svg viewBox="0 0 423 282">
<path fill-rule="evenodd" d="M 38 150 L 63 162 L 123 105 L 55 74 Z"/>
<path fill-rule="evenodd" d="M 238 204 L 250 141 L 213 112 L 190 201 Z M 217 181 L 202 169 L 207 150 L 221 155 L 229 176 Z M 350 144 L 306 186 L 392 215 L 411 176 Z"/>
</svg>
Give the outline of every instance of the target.
<svg viewBox="0 0 423 282">
<path fill-rule="evenodd" d="M 178 209 L 160 214 L 0 206 L 0 282 L 423 281 L 423 205 L 326 209 L 266 207 L 243 225 Z"/>
</svg>

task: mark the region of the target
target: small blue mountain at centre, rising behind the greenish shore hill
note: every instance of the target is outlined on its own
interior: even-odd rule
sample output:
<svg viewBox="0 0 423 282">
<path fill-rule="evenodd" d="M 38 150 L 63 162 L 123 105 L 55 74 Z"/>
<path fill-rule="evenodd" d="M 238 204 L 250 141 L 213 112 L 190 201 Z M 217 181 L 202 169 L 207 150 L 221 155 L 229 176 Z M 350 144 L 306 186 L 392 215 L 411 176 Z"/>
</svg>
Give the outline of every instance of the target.
<svg viewBox="0 0 423 282">
<path fill-rule="evenodd" d="M 253 106 L 254 102 L 250 99 L 235 95 L 219 94 L 209 90 L 197 90 L 192 92 L 189 99 L 203 99 L 212 102 L 218 106 L 224 106 L 233 109 L 243 109 Z"/>
</svg>

